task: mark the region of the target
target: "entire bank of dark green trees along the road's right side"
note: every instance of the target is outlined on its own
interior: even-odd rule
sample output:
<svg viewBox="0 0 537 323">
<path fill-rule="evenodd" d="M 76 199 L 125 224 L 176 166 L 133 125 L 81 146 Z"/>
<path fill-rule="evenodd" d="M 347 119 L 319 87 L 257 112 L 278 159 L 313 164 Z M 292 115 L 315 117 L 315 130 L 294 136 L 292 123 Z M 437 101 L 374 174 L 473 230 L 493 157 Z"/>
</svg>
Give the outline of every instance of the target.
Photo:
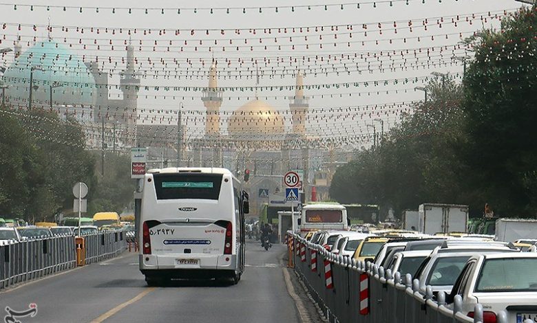
<svg viewBox="0 0 537 323">
<path fill-rule="evenodd" d="M 432 82 L 428 102 L 337 170 L 332 197 L 384 213 L 439 202 L 470 204 L 474 214 L 485 203 L 502 216 L 537 214 L 537 8 L 465 43 L 475 58 L 463 86 Z"/>
</svg>

